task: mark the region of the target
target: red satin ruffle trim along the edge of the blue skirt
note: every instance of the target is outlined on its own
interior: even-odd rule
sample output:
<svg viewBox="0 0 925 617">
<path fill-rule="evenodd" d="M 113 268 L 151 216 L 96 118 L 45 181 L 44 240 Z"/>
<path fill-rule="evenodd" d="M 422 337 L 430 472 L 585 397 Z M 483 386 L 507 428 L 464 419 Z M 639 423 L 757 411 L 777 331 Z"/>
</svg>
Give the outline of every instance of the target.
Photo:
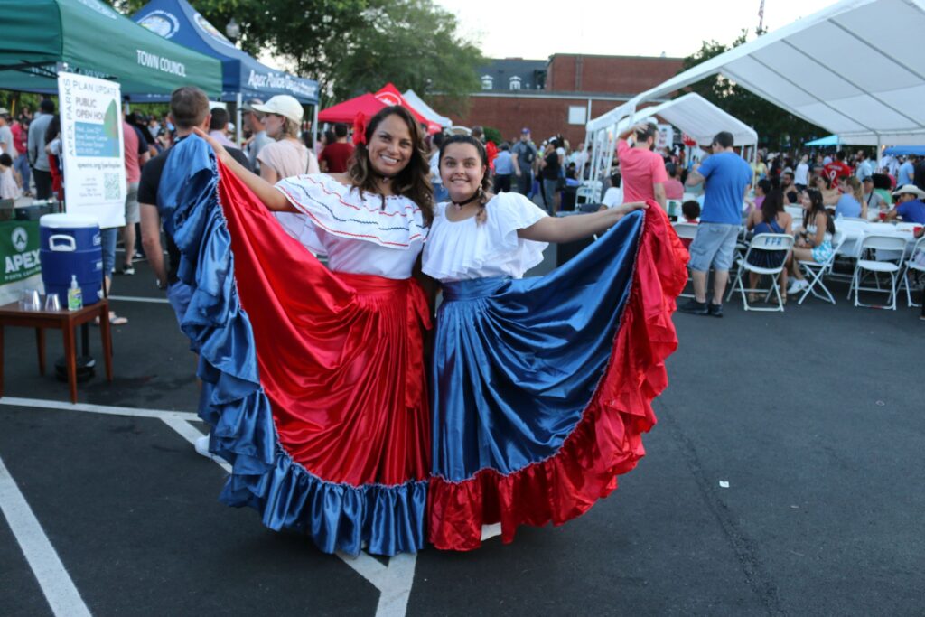
<svg viewBox="0 0 925 617">
<path fill-rule="evenodd" d="M 428 520 L 440 524 L 428 525 L 428 540 L 438 549 L 477 549 L 483 524 L 500 523 L 505 543 L 522 524 L 563 524 L 610 495 L 616 476 L 645 455 L 642 434 L 656 423 L 651 401 L 668 386 L 665 359 L 678 346 L 672 313 L 688 259 L 664 211 L 649 205 L 611 362 L 582 419 L 558 452 L 512 474 L 431 478 Z"/>
</svg>

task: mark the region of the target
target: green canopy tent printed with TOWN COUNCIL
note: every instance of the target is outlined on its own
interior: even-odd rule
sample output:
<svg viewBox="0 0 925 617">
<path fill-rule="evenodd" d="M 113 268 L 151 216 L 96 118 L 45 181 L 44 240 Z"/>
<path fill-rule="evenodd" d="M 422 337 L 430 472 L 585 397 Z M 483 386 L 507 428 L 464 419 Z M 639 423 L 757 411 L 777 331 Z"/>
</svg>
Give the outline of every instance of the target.
<svg viewBox="0 0 925 617">
<path fill-rule="evenodd" d="M 221 63 L 148 31 L 99 0 L 0 0 L 0 88 L 56 93 L 57 71 L 116 80 L 122 94 L 222 91 Z"/>
</svg>

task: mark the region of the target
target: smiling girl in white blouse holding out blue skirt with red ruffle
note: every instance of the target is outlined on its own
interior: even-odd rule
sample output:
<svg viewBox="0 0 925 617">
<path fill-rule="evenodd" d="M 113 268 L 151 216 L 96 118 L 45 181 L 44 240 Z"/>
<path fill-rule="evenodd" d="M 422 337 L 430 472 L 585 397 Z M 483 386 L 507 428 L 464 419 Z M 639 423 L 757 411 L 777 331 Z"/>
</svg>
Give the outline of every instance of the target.
<svg viewBox="0 0 925 617">
<path fill-rule="evenodd" d="M 553 218 L 487 192 L 475 139 L 451 137 L 439 160 L 450 203 L 435 208 L 423 265 L 443 290 L 428 538 L 469 550 L 484 524 L 511 542 L 520 524 L 586 512 L 643 456 L 687 253 L 656 204 Z M 598 233 L 567 265 L 523 278 L 547 242 Z"/>
</svg>

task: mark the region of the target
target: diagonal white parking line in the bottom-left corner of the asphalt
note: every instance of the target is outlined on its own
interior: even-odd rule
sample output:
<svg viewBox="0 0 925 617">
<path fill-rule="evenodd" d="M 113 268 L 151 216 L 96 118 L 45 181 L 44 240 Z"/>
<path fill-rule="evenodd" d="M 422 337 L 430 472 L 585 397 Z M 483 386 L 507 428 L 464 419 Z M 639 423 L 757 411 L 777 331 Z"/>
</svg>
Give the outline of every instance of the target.
<svg viewBox="0 0 925 617">
<path fill-rule="evenodd" d="M 6 516 L 6 523 L 19 542 L 26 561 L 29 561 L 32 574 L 35 574 L 52 611 L 59 617 L 90 617 L 90 610 L 80 598 L 80 592 L 45 536 L 29 502 L 6 470 L 3 459 L 0 459 L 0 511 Z"/>
</svg>

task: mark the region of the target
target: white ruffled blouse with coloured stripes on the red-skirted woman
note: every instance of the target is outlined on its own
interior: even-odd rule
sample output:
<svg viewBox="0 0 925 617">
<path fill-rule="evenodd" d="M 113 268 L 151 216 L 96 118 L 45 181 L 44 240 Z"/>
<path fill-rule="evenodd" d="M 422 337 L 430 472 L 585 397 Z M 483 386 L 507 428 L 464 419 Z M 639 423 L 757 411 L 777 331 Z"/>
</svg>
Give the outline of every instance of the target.
<svg viewBox="0 0 925 617">
<path fill-rule="evenodd" d="M 309 251 L 327 255 L 335 272 L 411 277 L 427 237 L 421 209 L 407 197 L 351 189 L 327 174 L 276 184 L 298 213 L 278 212 L 279 224 Z"/>
</svg>

